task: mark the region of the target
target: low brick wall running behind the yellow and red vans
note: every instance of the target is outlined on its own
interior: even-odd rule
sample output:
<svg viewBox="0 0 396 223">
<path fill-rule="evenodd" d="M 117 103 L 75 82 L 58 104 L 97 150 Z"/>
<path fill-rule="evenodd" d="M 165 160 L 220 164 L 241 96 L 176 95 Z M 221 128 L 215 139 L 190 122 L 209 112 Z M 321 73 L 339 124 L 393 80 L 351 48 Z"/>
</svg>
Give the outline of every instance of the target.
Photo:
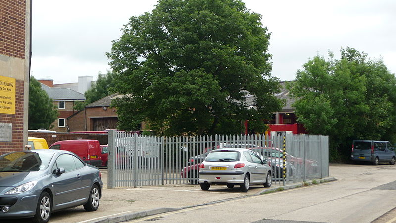
<svg viewBox="0 0 396 223">
<path fill-rule="evenodd" d="M 76 133 L 47 133 L 47 132 L 29 132 L 30 137 L 44 138 L 48 146 L 54 142 L 71 139 L 95 139 L 98 140 L 100 145 L 106 145 L 108 142 L 107 134 L 76 134 Z M 54 137 L 56 136 L 56 137 Z"/>
</svg>

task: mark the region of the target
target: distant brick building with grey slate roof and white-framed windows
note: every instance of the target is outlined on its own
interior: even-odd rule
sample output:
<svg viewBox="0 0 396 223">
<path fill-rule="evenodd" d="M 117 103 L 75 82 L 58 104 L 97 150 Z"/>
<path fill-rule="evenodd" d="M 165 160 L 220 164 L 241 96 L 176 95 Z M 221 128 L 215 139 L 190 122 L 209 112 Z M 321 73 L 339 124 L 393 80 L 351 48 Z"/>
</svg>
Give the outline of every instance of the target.
<svg viewBox="0 0 396 223">
<path fill-rule="evenodd" d="M 59 116 L 52 125 L 50 130 L 56 132 L 68 132 L 69 126 L 66 119 L 76 113 L 74 110 L 75 103 L 85 101 L 85 96 L 70 88 L 53 87 L 53 82 L 50 79 L 39 79 L 41 88 L 47 92 L 49 98 L 53 100 L 53 104 L 58 108 Z"/>
</svg>

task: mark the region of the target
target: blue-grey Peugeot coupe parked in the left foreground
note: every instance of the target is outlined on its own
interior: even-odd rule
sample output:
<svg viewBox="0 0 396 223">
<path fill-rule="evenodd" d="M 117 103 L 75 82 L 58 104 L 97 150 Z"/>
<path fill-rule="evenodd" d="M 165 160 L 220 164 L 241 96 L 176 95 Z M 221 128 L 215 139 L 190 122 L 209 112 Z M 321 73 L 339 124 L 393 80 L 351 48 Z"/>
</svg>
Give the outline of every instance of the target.
<svg viewBox="0 0 396 223">
<path fill-rule="evenodd" d="M 52 212 L 66 208 L 83 205 L 86 211 L 96 211 L 102 189 L 99 169 L 65 150 L 0 156 L 0 219 L 33 218 L 46 223 Z"/>
</svg>

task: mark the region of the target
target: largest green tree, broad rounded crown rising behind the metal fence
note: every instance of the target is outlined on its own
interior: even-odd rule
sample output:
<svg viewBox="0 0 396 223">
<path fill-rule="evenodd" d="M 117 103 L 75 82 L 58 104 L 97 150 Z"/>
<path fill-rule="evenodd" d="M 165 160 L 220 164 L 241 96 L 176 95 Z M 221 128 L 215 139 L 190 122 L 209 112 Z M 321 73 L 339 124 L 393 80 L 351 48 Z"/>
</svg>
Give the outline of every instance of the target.
<svg viewBox="0 0 396 223">
<path fill-rule="evenodd" d="M 281 108 L 270 34 L 240 0 L 159 0 L 131 17 L 107 56 L 118 72 L 119 128 L 160 134 L 239 133 Z"/>
</svg>

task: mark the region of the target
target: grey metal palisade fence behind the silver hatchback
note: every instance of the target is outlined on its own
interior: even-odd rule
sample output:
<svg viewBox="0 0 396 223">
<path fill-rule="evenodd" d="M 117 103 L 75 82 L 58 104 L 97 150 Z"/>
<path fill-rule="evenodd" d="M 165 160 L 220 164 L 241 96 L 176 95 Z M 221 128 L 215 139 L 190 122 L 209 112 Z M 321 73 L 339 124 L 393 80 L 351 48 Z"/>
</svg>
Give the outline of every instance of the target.
<svg viewBox="0 0 396 223">
<path fill-rule="evenodd" d="M 112 130 L 108 142 L 109 188 L 197 184 L 199 164 L 207 154 L 214 149 L 234 147 L 251 149 L 266 159 L 272 167 L 275 184 L 293 184 L 329 175 L 328 136 L 155 137 Z"/>
</svg>

